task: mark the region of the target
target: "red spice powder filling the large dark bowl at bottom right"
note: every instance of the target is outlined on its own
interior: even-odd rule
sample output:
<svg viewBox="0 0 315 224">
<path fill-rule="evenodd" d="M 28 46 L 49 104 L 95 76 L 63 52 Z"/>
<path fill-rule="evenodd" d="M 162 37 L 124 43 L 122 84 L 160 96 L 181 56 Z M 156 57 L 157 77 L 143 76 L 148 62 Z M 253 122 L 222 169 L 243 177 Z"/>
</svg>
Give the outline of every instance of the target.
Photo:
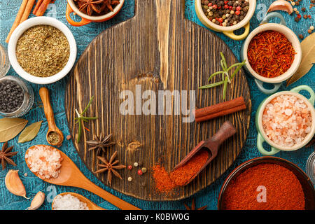
<svg viewBox="0 0 315 224">
<path fill-rule="evenodd" d="M 266 188 L 266 202 L 258 202 Z M 246 169 L 232 179 L 223 195 L 227 210 L 304 210 L 305 200 L 300 181 L 290 170 L 280 165 L 264 163 Z"/>
</svg>

